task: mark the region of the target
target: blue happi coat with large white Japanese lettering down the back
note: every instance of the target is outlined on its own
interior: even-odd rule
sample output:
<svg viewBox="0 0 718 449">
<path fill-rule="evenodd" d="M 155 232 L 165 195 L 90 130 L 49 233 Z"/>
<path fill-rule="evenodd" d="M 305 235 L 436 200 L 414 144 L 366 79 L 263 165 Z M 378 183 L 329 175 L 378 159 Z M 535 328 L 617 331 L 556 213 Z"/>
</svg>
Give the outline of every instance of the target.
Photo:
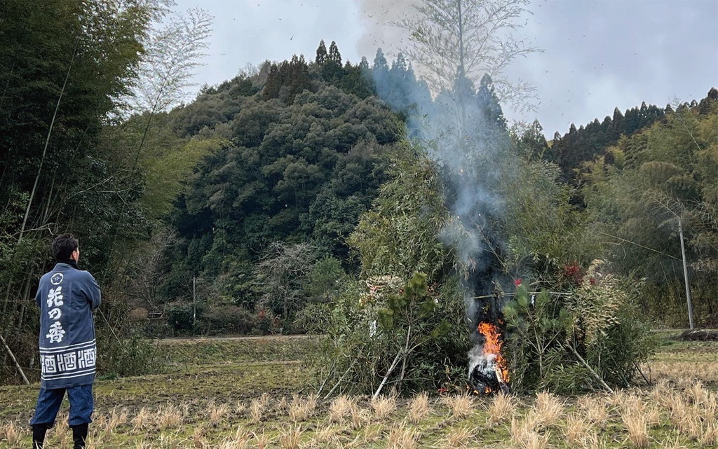
<svg viewBox="0 0 718 449">
<path fill-rule="evenodd" d="M 57 263 L 40 278 L 35 301 L 40 307 L 40 387 L 57 389 L 95 380 L 95 323 L 100 287 L 87 271 Z"/>
</svg>

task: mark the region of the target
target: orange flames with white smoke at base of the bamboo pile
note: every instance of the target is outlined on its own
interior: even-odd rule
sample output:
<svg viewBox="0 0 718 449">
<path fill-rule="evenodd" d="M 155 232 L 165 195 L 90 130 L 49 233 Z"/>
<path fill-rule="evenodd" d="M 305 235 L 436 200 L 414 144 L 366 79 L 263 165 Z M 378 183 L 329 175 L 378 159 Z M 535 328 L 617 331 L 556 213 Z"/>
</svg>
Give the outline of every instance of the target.
<svg viewBox="0 0 718 449">
<path fill-rule="evenodd" d="M 469 387 L 475 394 L 499 391 L 508 394 L 508 363 L 501 353 L 501 328 L 482 322 L 477 326 L 477 331 L 485 341 L 469 352 Z"/>
</svg>

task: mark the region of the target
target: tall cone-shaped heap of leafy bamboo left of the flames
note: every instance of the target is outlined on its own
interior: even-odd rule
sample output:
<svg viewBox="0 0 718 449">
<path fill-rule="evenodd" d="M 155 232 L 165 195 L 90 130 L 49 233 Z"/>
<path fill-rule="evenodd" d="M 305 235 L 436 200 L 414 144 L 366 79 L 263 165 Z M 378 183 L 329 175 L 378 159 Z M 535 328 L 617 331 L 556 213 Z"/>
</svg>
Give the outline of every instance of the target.
<svg viewBox="0 0 718 449">
<path fill-rule="evenodd" d="M 435 166 L 406 147 L 388 175 L 349 240 L 362 280 L 304 312 L 325 336 L 310 361 L 327 392 L 434 389 L 465 370 L 469 333 L 451 251 L 438 239 L 451 217 Z"/>
</svg>

